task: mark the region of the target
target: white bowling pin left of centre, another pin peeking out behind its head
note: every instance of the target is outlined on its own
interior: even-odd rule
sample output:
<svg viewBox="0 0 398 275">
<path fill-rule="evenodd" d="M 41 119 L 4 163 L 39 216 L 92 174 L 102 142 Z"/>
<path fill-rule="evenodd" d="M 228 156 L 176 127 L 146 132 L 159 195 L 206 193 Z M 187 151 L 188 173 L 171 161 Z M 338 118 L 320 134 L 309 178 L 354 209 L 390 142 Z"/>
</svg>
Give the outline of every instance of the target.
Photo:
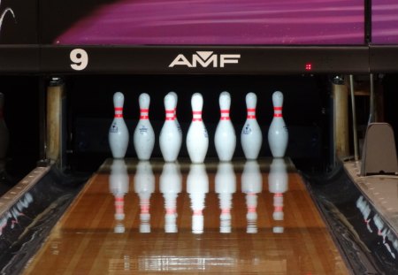
<svg viewBox="0 0 398 275">
<path fill-rule="evenodd" d="M 175 161 L 181 149 L 182 134 L 175 122 L 176 103 L 174 95 L 165 95 L 165 124 L 160 131 L 159 146 L 166 162 Z"/>
</svg>

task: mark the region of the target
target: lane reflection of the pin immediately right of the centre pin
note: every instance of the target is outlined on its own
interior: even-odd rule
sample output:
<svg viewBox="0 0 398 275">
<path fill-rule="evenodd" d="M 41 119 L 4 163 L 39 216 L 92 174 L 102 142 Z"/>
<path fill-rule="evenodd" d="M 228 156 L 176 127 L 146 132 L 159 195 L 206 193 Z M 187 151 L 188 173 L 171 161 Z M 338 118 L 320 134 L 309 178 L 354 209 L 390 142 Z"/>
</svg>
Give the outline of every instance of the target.
<svg viewBox="0 0 398 275">
<path fill-rule="evenodd" d="M 219 163 L 215 182 L 219 208 L 221 210 L 219 232 L 231 233 L 232 199 L 233 193 L 236 192 L 236 178 L 233 172 L 233 164 L 230 162 Z"/>
</svg>

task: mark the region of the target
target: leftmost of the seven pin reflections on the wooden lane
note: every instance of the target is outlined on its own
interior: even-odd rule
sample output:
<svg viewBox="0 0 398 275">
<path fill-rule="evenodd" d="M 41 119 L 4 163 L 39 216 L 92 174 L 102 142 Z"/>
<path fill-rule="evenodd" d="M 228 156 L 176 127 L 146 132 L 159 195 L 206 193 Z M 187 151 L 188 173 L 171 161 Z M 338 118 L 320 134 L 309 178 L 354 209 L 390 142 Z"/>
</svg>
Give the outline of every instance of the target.
<svg viewBox="0 0 398 275">
<path fill-rule="evenodd" d="M 109 189 L 115 198 L 115 233 L 124 233 L 125 195 L 128 192 L 127 166 L 123 159 L 114 159 L 109 176 Z"/>
</svg>

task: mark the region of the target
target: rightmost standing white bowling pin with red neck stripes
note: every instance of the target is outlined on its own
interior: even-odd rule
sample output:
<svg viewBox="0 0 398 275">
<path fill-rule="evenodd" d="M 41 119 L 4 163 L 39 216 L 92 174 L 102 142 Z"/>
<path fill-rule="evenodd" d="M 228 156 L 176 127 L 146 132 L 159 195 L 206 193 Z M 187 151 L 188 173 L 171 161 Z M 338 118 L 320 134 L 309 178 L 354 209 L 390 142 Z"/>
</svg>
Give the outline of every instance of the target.
<svg viewBox="0 0 398 275">
<path fill-rule="evenodd" d="M 282 116 L 283 94 L 272 94 L 273 118 L 268 129 L 268 143 L 273 157 L 284 157 L 287 149 L 288 132 Z"/>
</svg>

